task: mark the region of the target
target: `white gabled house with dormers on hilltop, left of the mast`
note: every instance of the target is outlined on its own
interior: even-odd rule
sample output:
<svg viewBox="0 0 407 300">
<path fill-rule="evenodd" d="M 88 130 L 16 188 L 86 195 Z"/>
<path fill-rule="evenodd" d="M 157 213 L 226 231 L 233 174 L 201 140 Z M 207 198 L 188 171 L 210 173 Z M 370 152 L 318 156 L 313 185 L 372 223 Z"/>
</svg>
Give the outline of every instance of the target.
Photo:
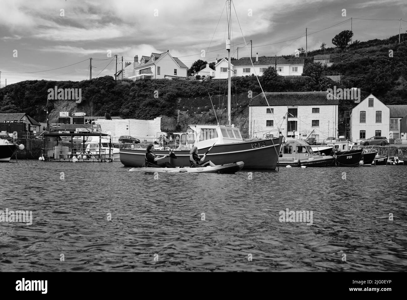
<svg viewBox="0 0 407 300">
<path fill-rule="evenodd" d="M 151 53 L 150 56 L 142 56 L 140 65 L 134 69 L 132 80 L 141 78 L 172 79 L 186 78 L 188 67 L 178 58 L 171 56 L 168 52 Z"/>
</svg>

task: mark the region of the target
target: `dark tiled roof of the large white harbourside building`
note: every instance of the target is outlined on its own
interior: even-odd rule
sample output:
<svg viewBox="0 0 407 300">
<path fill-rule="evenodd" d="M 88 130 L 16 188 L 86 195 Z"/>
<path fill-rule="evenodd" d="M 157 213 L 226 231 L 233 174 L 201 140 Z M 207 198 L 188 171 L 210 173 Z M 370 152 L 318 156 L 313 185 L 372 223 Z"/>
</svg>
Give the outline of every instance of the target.
<svg viewBox="0 0 407 300">
<path fill-rule="evenodd" d="M 270 106 L 278 105 L 338 105 L 338 100 L 328 100 L 326 91 L 265 93 Z M 249 106 L 267 106 L 263 93 L 252 98 Z"/>
</svg>

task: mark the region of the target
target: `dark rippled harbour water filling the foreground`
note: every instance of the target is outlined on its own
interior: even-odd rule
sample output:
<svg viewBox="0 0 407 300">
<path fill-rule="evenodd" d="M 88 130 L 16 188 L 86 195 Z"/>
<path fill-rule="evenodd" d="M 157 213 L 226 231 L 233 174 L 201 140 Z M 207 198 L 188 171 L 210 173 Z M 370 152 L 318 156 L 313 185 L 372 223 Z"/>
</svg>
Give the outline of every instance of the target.
<svg viewBox="0 0 407 300">
<path fill-rule="evenodd" d="M 32 225 L 0 223 L 0 271 L 407 270 L 405 166 L 280 168 L 251 180 L 128 169 L 0 164 L 0 210 L 33 211 Z M 313 211 L 312 225 L 280 222 L 286 209 Z"/>
</svg>

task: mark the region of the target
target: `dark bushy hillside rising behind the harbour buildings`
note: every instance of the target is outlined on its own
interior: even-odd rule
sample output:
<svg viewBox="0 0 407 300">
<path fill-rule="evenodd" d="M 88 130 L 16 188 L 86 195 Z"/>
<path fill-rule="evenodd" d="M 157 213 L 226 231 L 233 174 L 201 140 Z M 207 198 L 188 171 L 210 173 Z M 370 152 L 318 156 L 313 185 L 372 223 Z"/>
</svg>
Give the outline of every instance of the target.
<svg viewBox="0 0 407 300">
<path fill-rule="evenodd" d="M 405 40 L 405 41 L 404 41 Z M 314 91 L 325 88 L 361 89 L 361 98 L 373 93 L 385 104 L 407 103 L 407 34 L 385 40 L 355 41 L 345 51 L 337 48 L 310 51 L 305 58 L 306 66 L 312 63 L 313 55 L 330 54 L 340 57 L 342 62 L 325 68 L 326 74 L 341 74 L 341 84 L 329 80 L 324 87 L 315 86 L 312 78 L 284 78 L 278 76 L 266 81 L 260 77 L 264 91 Z M 389 50 L 393 57 L 389 57 Z M 290 58 L 290 56 L 285 56 Z M 59 111 L 70 113 L 82 111 L 88 116 L 103 116 L 106 112 L 122 118 L 163 118 L 168 131 L 185 130 L 189 123 L 216 124 L 209 94 L 212 98 L 220 123 L 225 122 L 226 80 L 128 80 L 115 81 L 111 76 L 92 80 L 47 81 L 27 80 L 10 84 L 0 89 L 0 113 L 26 112 L 35 120 L 46 119 L 48 89 L 81 89 L 82 101 L 50 100 L 50 122 L 56 122 Z M 155 92 L 157 91 L 157 92 Z M 247 133 L 249 102 L 248 91 L 253 96 L 261 92 L 257 79 L 239 77 L 232 79 L 232 123 Z M 354 107 L 352 100 L 339 101 L 339 115 Z M 219 107 L 219 110 L 218 110 Z M 178 112 L 179 111 L 179 112 Z M 178 121 L 177 121 L 178 120 Z"/>
</svg>

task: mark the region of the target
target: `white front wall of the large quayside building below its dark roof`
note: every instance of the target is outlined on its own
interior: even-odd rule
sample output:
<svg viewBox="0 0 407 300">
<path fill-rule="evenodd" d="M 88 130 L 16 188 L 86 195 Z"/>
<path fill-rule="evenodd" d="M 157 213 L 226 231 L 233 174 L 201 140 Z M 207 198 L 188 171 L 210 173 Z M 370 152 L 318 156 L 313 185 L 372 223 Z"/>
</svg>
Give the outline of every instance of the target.
<svg viewBox="0 0 407 300">
<path fill-rule="evenodd" d="M 286 113 L 289 108 L 297 108 L 297 118 L 288 118 L 288 121 L 297 121 L 297 132 L 295 135 L 309 136 L 311 131 L 313 135 L 317 135 L 317 140 L 322 140 L 329 136 L 336 136 L 336 128 L 338 123 L 338 106 L 337 105 L 301 105 L 301 106 L 271 106 L 274 109 L 274 114 L 267 113 L 266 106 L 251 106 L 249 107 L 249 134 L 257 132 L 257 137 L 262 138 L 267 131 L 282 128 L 282 134 L 287 135 L 287 117 Z M 319 108 L 319 113 L 312 113 L 313 108 Z M 267 127 L 267 120 L 273 120 L 273 127 Z M 312 127 L 312 120 L 319 120 L 319 127 Z M 270 134 L 278 135 L 278 131 L 273 131 Z M 288 132 L 291 135 L 292 131 Z"/>
</svg>

